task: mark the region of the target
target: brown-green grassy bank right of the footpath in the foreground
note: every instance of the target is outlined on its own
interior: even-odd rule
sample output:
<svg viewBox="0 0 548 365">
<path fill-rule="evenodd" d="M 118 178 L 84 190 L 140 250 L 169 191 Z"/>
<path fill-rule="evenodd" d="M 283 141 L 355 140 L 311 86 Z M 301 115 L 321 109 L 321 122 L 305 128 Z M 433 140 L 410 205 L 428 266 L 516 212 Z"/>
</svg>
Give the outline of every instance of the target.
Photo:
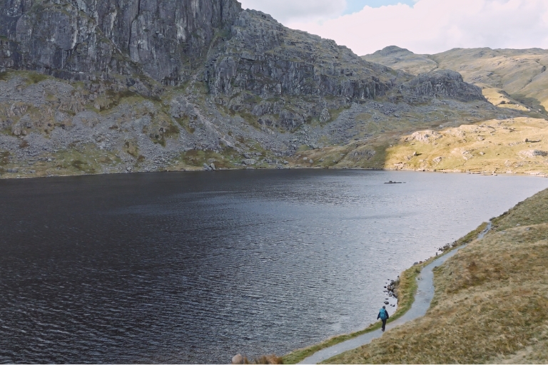
<svg viewBox="0 0 548 365">
<path fill-rule="evenodd" d="M 425 317 L 331 364 L 548 362 L 548 190 L 435 270 Z"/>
</svg>

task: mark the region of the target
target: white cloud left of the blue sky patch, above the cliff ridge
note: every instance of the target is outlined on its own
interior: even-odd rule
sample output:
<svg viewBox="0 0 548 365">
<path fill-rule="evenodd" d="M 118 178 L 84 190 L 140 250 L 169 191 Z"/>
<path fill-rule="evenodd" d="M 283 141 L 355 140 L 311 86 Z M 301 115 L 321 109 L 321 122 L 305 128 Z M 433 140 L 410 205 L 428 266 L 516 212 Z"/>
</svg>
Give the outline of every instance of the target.
<svg viewBox="0 0 548 365">
<path fill-rule="evenodd" d="M 346 0 L 240 0 L 243 9 L 270 14 L 282 24 L 318 23 L 333 19 L 346 9 Z"/>
</svg>

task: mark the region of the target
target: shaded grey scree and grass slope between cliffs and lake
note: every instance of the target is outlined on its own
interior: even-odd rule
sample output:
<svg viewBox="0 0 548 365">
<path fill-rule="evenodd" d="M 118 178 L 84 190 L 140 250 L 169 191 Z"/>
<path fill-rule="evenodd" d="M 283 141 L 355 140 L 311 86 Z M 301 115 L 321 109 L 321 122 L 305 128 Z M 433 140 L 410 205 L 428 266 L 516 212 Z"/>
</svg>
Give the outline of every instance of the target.
<svg viewBox="0 0 548 365">
<path fill-rule="evenodd" d="M 0 178 L 213 168 L 394 168 L 390 145 L 400 143 L 402 135 L 522 115 L 484 101 L 406 103 L 385 96 L 326 109 L 321 118 L 286 130 L 261 123 L 261 115 L 226 107 L 199 81 L 150 98 L 101 87 L 93 92 L 89 85 L 26 71 L 2 74 Z M 302 98 L 287 99 L 298 103 Z"/>
</svg>

